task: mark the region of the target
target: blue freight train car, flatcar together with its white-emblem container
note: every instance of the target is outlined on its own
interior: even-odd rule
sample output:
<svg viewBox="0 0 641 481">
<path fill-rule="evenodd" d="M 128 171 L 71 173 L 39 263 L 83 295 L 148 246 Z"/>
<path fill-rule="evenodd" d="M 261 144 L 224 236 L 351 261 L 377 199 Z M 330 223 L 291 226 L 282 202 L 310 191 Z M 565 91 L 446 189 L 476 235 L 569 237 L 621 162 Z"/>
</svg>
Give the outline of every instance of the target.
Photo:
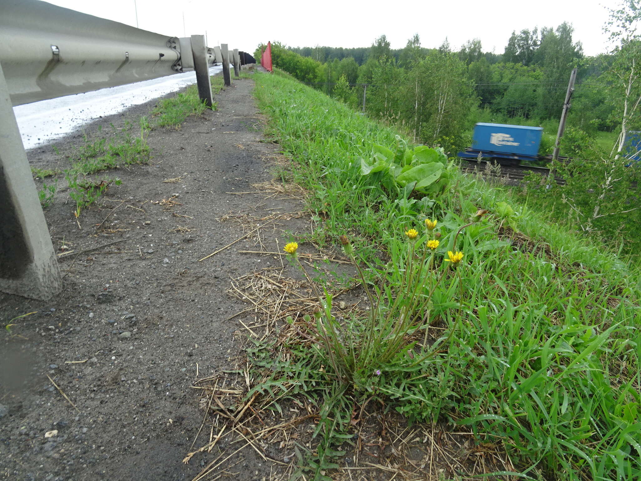
<svg viewBox="0 0 641 481">
<path fill-rule="evenodd" d="M 523 125 L 485 124 L 474 126 L 472 147 L 458 156 L 469 160 L 483 158 L 503 165 L 519 165 L 522 160 L 551 160 L 538 154 L 543 128 Z"/>
</svg>

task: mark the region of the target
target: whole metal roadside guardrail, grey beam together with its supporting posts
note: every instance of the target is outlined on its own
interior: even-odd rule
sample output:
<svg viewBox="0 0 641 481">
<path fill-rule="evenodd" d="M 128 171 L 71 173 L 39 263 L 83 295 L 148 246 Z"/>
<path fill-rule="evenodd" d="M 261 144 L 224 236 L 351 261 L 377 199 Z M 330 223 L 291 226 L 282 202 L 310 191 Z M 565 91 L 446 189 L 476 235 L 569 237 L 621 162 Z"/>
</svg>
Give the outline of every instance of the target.
<svg viewBox="0 0 641 481">
<path fill-rule="evenodd" d="M 0 291 L 46 300 L 62 277 L 13 106 L 187 70 L 211 106 L 208 67 L 221 62 L 229 87 L 240 53 L 207 47 L 204 35 L 167 37 L 39 0 L 0 0 L 0 45 Z"/>
</svg>

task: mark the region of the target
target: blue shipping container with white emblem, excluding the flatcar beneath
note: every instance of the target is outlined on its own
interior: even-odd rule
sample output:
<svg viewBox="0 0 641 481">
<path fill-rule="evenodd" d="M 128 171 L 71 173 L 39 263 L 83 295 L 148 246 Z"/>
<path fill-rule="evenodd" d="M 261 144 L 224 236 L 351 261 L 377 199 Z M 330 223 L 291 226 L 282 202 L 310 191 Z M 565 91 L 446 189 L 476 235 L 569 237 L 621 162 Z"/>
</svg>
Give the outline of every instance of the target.
<svg viewBox="0 0 641 481">
<path fill-rule="evenodd" d="M 472 149 L 535 158 L 542 133 L 541 127 L 479 123 L 474 126 Z"/>
</svg>

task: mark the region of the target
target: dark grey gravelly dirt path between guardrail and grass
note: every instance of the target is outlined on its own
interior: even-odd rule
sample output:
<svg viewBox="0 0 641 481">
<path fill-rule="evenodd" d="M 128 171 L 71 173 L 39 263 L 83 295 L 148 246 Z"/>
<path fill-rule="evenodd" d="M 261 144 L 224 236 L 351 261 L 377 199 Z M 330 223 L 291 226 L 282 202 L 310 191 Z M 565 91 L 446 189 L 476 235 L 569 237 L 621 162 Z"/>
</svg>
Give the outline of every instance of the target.
<svg viewBox="0 0 641 481">
<path fill-rule="evenodd" d="M 296 214 L 276 218 L 301 210 L 296 199 L 229 193 L 255 192 L 254 184 L 272 178 L 265 159 L 275 147 L 260 142 L 252 88 L 251 80 L 235 81 L 217 95 L 216 112 L 188 119 L 181 130 L 152 131 L 153 165 L 109 173 L 122 185 L 81 214 L 81 230 L 65 192 L 46 209 L 54 247 L 73 252 L 60 258 L 64 290 L 53 300 L 0 293 L 3 326 L 37 311 L 19 319 L 13 335 L 0 333 L 0 476 L 190 480 L 212 460 L 213 453 L 199 454 L 181 463 L 203 421 L 190 386 L 197 376 L 231 365 L 239 344 L 233 333 L 242 329 L 240 321 L 253 322 L 226 320 L 247 307 L 226 295 L 229 277 L 281 264 L 278 256 L 237 252 L 258 250 L 255 233 L 199 259 L 267 221 L 271 233 L 263 229 L 260 241 L 276 251 L 274 239 L 281 248 L 288 240 L 283 230 L 303 231 L 309 222 Z M 101 119 L 88 130 L 121 125 L 126 115 Z M 64 153 L 74 142 L 78 135 L 56 148 Z M 29 158 L 43 168 L 67 162 L 51 146 Z M 219 221 L 228 214 L 247 215 Z M 57 434 L 46 438 L 53 430 Z M 199 441 L 209 436 L 205 426 Z M 260 459 L 244 455 L 236 478 L 262 479 Z"/>
</svg>

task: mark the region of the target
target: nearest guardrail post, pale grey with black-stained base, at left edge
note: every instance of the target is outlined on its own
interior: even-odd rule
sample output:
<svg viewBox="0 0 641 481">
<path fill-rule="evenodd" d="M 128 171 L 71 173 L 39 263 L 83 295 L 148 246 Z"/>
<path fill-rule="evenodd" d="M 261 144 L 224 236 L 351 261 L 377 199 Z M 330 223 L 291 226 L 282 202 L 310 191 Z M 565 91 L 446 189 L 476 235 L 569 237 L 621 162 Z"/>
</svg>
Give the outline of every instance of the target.
<svg viewBox="0 0 641 481">
<path fill-rule="evenodd" d="M 0 291 L 47 300 L 62 277 L 1 65 L 0 125 Z"/>
</svg>

